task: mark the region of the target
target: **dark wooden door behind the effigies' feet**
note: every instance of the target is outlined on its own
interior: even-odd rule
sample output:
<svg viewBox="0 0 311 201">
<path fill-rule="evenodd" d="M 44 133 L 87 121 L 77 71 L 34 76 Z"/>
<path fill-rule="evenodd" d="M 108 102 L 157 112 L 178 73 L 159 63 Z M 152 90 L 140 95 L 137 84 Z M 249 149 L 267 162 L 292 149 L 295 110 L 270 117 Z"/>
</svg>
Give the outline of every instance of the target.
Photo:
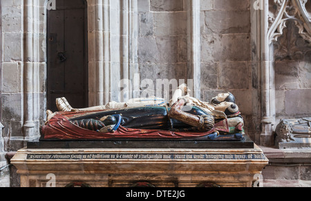
<svg viewBox="0 0 311 201">
<path fill-rule="evenodd" d="M 48 10 L 48 110 L 56 98 L 74 108 L 88 106 L 87 13 L 84 0 L 57 0 Z"/>
</svg>

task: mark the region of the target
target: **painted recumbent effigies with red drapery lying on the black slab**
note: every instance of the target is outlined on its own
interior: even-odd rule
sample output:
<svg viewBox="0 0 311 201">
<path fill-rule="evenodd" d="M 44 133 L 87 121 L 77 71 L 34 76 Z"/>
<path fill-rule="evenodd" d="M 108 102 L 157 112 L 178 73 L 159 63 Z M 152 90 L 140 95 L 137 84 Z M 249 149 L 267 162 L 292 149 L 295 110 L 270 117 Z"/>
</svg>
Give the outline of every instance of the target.
<svg viewBox="0 0 311 201">
<path fill-rule="evenodd" d="M 186 95 L 185 95 L 186 94 Z M 42 140 L 70 139 L 241 139 L 243 117 L 233 94 L 224 93 L 203 102 L 188 95 L 183 84 L 169 101 L 134 98 L 126 103 L 76 109 L 57 98 L 59 112 L 48 110 L 41 126 Z M 231 138 L 230 138 L 231 137 Z"/>
</svg>

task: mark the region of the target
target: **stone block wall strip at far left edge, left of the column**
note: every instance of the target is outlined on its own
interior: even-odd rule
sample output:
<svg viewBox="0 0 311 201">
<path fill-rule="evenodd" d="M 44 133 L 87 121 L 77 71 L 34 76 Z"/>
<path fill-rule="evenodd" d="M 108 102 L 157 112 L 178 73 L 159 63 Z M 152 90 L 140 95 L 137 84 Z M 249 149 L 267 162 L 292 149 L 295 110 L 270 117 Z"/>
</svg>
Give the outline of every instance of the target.
<svg viewBox="0 0 311 201">
<path fill-rule="evenodd" d="M 21 3 L 1 1 L 1 122 L 6 147 L 21 133 Z"/>
</svg>

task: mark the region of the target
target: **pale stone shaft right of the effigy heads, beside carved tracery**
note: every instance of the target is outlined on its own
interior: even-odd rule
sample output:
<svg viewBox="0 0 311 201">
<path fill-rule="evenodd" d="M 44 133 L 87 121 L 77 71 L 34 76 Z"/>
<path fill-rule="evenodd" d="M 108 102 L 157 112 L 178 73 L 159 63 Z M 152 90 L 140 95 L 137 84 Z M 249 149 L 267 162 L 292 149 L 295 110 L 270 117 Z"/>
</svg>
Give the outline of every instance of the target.
<svg viewBox="0 0 311 201">
<path fill-rule="evenodd" d="M 253 82 L 257 82 L 260 90 L 258 95 L 261 95 L 261 99 L 258 100 L 258 104 L 261 105 L 258 108 L 258 114 L 261 114 L 261 134 L 256 136 L 256 141 L 260 141 L 263 146 L 271 146 L 274 143 L 272 125 L 275 119 L 275 100 L 273 46 L 270 45 L 267 34 L 269 30 L 269 1 L 252 0 L 250 5 L 252 49 L 255 50 L 255 53 L 252 54 L 252 64 L 258 74 L 258 80 L 253 80 Z"/>
</svg>

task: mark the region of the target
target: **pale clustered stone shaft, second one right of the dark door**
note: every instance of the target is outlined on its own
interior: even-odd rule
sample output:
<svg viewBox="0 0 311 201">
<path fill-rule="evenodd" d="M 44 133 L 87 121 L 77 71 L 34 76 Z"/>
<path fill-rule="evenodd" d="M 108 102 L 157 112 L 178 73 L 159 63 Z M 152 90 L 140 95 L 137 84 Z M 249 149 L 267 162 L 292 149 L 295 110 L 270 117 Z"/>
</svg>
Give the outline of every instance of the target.
<svg viewBox="0 0 311 201">
<path fill-rule="evenodd" d="M 113 33 L 117 33 L 116 39 L 120 38 L 120 56 L 114 62 L 120 62 L 120 72 L 115 77 L 121 82 L 115 83 L 119 94 L 118 100 L 124 102 L 129 98 L 136 98 L 136 92 L 139 90 L 139 83 L 135 82 L 135 75 L 138 74 L 138 1 L 122 0 L 115 5 L 120 10 L 120 27 L 112 26 Z M 116 80 L 114 79 L 114 82 Z M 112 84 L 113 85 L 113 84 Z M 120 91 L 120 87 L 125 87 Z"/>
</svg>

